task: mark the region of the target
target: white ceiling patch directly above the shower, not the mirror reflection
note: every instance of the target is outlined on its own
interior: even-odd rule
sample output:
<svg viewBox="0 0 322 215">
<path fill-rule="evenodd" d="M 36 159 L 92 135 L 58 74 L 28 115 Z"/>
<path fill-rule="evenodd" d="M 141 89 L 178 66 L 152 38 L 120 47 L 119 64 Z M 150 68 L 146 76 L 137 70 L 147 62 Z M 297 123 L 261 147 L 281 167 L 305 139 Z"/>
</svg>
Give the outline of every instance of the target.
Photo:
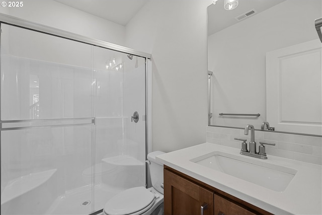
<svg viewBox="0 0 322 215">
<path fill-rule="evenodd" d="M 125 26 L 148 0 L 54 0 Z"/>
</svg>

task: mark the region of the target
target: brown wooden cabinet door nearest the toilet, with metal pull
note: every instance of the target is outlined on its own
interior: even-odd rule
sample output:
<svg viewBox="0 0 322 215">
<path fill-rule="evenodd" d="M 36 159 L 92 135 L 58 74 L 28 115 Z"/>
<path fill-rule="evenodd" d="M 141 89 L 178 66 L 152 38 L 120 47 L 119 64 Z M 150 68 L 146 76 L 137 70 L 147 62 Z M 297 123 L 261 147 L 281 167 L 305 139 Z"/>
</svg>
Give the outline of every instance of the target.
<svg viewBox="0 0 322 215">
<path fill-rule="evenodd" d="M 168 170 L 164 170 L 165 215 L 213 214 L 213 192 Z"/>
</svg>

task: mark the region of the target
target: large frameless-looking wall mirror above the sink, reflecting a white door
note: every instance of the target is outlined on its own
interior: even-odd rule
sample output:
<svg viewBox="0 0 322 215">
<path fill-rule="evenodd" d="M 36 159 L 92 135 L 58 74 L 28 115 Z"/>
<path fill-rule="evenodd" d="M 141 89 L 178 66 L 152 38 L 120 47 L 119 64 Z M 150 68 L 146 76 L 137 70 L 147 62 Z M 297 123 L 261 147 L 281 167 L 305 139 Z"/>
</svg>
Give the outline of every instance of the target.
<svg viewBox="0 0 322 215">
<path fill-rule="evenodd" d="M 239 0 L 231 11 L 223 2 L 207 9 L 209 125 L 261 129 L 268 122 L 276 132 L 322 135 L 314 26 L 322 1 Z"/>
</svg>

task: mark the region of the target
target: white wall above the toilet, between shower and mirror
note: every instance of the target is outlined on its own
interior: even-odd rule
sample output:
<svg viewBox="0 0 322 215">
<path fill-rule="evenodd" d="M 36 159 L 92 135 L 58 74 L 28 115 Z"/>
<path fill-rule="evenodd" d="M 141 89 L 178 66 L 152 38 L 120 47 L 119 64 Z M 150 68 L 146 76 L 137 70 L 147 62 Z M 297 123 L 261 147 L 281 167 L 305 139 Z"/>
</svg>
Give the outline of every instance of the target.
<svg viewBox="0 0 322 215">
<path fill-rule="evenodd" d="M 150 0 L 126 45 L 152 54 L 152 151 L 205 142 L 209 0 Z"/>
</svg>

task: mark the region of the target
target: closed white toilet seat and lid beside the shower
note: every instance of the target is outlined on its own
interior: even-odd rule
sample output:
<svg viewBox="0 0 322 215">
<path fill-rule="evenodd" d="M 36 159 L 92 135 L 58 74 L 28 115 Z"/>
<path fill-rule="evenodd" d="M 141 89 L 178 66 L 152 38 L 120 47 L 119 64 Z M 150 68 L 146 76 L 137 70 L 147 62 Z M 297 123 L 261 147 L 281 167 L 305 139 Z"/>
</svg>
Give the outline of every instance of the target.
<svg viewBox="0 0 322 215">
<path fill-rule="evenodd" d="M 154 203 L 155 195 L 145 187 L 133 187 L 112 197 L 104 206 L 108 215 L 136 215 L 147 211 Z"/>
</svg>

